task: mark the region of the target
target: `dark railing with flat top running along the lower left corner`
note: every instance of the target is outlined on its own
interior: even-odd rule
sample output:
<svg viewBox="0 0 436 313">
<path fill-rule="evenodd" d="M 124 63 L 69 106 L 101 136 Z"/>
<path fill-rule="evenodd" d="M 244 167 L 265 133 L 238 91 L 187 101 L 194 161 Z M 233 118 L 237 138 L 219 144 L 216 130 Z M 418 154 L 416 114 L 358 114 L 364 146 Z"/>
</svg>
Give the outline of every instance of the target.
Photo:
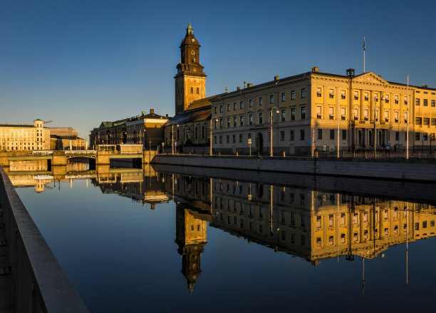
<svg viewBox="0 0 436 313">
<path fill-rule="evenodd" d="M 88 312 L 2 168 L 0 204 L 16 288 L 16 312 Z"/>
</svg>

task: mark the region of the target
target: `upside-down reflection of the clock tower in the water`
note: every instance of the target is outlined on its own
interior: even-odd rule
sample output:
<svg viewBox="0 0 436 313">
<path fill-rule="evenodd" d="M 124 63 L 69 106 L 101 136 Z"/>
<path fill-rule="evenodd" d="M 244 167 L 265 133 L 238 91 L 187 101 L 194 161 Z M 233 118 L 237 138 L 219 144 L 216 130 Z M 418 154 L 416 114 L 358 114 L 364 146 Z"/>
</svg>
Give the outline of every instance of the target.
<svg viewBox="0 0 436 313">
<path fill-rule="evenodd" d="M 202 272 L 200 258 L 207 244 L 206 227 L 206 221 L 196 216 L 195 211 L 177 205 L 175 242 L 179 246 L 177 252 L 182 255 L 182 274 L 191 295 Z"/>
</svg>

